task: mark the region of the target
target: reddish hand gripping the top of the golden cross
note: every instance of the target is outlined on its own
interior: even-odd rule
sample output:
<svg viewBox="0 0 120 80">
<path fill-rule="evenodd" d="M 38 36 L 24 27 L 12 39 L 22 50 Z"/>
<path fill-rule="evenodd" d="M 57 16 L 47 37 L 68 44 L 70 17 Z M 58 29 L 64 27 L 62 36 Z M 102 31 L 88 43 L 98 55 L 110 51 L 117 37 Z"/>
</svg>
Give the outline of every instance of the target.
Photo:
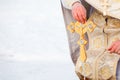
<svg viewBox="0 0 120 80">
<path fill-rule="evenodd" d="M 72 15 L 73 15 L 74 19 L 76 19 L 77 21 L 79 21 L 81 23 L 86 22 L 86 9 L 81 3 L 76 2 L 73 4 Z"/>
</svg>

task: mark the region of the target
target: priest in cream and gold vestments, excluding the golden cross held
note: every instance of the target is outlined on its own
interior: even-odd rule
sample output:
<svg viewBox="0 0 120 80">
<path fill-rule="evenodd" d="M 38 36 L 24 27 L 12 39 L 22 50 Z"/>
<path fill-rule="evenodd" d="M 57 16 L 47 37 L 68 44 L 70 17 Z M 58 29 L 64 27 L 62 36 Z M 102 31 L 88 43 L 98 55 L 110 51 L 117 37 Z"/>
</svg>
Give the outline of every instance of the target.
<svg viewBox="0 0 120 80">
<path fill-rule="evenodd" d="M 92 21 L 96 28 L 85 34 L 87 60 L 82 66 L 79 35 L 68 33 L 72 60 L 82 80 L 120 80 L 120 0 L 61 0 L 65 25 Z"/>
</svg>

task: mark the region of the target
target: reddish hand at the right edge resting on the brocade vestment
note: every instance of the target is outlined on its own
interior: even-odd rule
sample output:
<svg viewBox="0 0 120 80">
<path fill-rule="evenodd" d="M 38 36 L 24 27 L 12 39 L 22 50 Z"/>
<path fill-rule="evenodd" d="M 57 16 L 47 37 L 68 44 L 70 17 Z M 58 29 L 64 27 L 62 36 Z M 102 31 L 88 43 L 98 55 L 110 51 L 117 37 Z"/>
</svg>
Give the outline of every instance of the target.
<svg viewBox="0 0 120 80">
<path fill-rule="evenodd" d="M 120 55 L 120 40 L 113 42 L 112 45 L 108 48 L 108 51 Z"/>
</svg>

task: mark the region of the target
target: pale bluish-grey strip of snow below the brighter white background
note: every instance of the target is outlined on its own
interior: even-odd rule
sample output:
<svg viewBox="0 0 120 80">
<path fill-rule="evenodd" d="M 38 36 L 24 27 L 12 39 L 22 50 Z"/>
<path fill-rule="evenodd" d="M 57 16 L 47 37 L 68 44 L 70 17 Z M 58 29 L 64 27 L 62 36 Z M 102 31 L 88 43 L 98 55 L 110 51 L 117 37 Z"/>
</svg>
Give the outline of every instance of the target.
<svg viewBox="0 0 120 80">
<path fill-rule="evenodd" d="M 0 80 L 78 80 L 70 63 L 0 62 Z"/>
</svg>

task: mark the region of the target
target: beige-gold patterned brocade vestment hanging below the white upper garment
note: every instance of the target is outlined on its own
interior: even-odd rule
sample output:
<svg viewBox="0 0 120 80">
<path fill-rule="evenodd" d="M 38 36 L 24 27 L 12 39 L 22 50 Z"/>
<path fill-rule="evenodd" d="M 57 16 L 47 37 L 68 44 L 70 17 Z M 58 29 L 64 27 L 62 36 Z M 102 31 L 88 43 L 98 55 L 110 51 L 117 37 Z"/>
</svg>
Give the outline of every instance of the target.
<svg viewBox="0 0 120 80">
<path fill-rule="evenodd" d="M 88 80 L 116 80 L 116 69 L 119 55 L 110 54 L 107 48 L 116 40 L 120 40 L 120 20 L 103 16 L 94 11 L 89 18 L 96 24 L 92 33 L 87 32 L 89 38 L 89 49 L 87 50 L 87 61 L 83 63 L 78 58 L 76 73 L 81 78 L 85 76 Z"/>
</svg>

